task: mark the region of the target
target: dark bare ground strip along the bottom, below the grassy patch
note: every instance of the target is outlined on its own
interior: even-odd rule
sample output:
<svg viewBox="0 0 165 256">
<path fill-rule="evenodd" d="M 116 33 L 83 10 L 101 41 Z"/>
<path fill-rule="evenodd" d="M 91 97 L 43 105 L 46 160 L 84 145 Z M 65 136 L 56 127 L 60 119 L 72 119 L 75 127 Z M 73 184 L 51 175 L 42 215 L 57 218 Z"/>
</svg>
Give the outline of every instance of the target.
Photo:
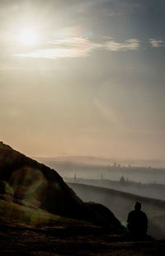
<svg viewBox="0 0 165 256">
<path fill-rule="evenodd" d="M 164 256 L 165 241 L 126 241 L 97 227 L 1 225 L 0 255 Z"/>
</svg>

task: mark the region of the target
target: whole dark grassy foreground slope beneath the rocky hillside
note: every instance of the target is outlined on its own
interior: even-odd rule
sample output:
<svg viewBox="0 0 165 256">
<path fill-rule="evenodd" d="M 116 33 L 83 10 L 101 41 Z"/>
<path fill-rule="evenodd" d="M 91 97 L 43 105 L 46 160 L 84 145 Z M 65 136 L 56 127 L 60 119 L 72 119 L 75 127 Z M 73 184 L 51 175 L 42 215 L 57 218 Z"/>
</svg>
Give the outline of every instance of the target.
<svg viewBox="0 0 165 256">
<path fill-rule="evenodd" d="M 165 244 L 129 241 L 85 221 L 0 200 L 1 255 L 163 256 Z"/>
</svg>

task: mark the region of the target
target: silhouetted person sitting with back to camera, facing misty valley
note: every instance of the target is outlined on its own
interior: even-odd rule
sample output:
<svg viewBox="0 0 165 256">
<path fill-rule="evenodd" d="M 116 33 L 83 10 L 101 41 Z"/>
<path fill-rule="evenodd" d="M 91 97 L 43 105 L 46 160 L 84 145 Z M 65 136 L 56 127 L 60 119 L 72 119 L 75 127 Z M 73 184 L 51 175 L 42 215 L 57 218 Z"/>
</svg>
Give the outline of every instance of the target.
<svg viewBox="0 0 165 256">
<path fill-rule="evenodd" d="M 144 211 L 141 211 L 141 203 L 137 201 L 134 205 L 134 211 L 130 211 L 127 228 L 134 237 L 142 238 L 146 235 L 148 229 L 148 218 Z"/>
</svg>

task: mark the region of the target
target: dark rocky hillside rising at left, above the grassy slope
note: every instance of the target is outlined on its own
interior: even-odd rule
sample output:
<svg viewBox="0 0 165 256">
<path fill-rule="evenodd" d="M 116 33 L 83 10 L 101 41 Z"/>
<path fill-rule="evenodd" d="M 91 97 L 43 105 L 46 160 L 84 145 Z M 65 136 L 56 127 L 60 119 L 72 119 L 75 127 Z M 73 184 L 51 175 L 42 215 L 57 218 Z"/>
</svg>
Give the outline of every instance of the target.
<svg viewBox="0 0 165 256">
<path fill-rule="evenodd" d="M 120 221 L 105 206 L 84 203 L 54 169 L 26 157 L 2 142 L 0 196 L 3 201 L 13 201 L 76 220 L 86 220 L 116 234 L 125 233 Z M 103 216 L 102 207 L 105 209 Z"/>
</svg>

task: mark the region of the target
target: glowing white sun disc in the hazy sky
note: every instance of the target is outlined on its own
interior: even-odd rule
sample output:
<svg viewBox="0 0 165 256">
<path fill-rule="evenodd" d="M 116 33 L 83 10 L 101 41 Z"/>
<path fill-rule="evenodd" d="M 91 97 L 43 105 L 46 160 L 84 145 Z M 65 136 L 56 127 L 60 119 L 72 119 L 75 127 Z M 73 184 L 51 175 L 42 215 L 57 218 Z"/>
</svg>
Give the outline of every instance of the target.
<svg viewBox="0 0 165 256">
<path fill-rule="evenodd" d="M 37 36 L 35 31 L 31 29 L 25 29 L 20 32 L 20 42 L 22 45 L 35 45 Z"/>
</svg>

